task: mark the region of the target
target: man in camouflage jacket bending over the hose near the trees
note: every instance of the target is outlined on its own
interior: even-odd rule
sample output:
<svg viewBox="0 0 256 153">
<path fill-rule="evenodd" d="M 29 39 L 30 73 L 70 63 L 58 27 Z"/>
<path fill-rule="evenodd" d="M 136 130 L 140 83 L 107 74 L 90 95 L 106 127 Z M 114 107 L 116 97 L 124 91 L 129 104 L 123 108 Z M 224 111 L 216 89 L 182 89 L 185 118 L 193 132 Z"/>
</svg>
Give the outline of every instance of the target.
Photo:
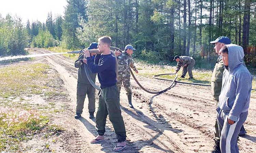
<svg viewBox="0 0 256 153">
<path fill-rule="evenodd" d="M 189 56 L 174 56 L 173 61 L 177 62 L 177 66 L 176 66 L 176 73 L 181 69 L 181 67 L 183 67 L 182 69 L 182 74 L 181 74 L 181 78 L 185 78 L 185 75 L 188 72 L 189 75 L 189 79 L 193 79 L 193 73 L 192 73 L 192 69 L 196 63 L 196 61 L 193 59 L 193 57 L 189 57 Z"/>
</svg>

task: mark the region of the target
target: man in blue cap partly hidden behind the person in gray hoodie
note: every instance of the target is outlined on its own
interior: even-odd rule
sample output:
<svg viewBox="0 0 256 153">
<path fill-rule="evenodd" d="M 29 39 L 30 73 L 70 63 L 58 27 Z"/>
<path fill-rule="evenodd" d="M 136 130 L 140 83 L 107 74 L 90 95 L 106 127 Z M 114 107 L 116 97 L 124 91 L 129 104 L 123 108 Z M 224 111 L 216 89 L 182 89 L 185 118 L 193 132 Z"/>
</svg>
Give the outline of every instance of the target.
<svg viewBox="0 0 256 153">
<path fill-rule="evenodd" d="M 212 73 L 212 79 L 211 79 L 212 96 L 214 101 L 216 102 L 216 105 L 218 105 L 219 95 L 221 94 L 221 88 L 222 88 L 222 76 L 224 71 L 224 63 L 222 61 L 222 56 L 219 54 L 219 51 L 223 46 L 231 44 L 231 41 L 228 37 L 221 36 L 221 37 L 218 37 L 216 40 L 211 41 L 210 43 L 215 45 L 214 49 L 216 54 L 218 54 L 218 58 L 216 60 L 216 64 L 215 64 L 215 67 Z M 244 135 L 245 133 L 246 131 L 242 126 L 239 135 Z M 221 153 L 221 149 L 219 146 L 220 135 L 219 135 L 217 120 L 215 120 L 214 141 L 215 141 L 215 146 L 213 147 L 214 150 L 212 151 L 212 153 Z"/>
</svg>

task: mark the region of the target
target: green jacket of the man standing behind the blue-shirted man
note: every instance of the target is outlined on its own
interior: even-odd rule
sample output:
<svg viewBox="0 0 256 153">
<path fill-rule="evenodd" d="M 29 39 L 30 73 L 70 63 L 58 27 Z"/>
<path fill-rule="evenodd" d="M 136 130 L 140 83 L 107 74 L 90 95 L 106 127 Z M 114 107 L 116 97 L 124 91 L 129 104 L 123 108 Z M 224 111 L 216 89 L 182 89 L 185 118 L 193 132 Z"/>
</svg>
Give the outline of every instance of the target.
<svg viewBox="0 0 256 153">
<path fill-rule="evenodd" d="M 81 55 L 81 54 L 80 54 Z M 79 56 L 80 56 L 79 55 Z M 87 77 L 86 77 L 86 74 L 85 74 L 85 71 L 84 71 L 84 66 L 87 66 L 87 64 L 84 64 L 82 63 L 79 59 L 77 59 L 75 61 L 75 67 L 76 68 L 79 68 L 78 69 L 78 76 L 77 76 L 77 82 L 79 83 L 83 83 L 83 84 L 90 84 L 90 82 L 88 81 Z M 88 66 L 87 66 L 88 67 Z M 91 76 L 91 80 L 93 80 L 93 82 L 95 82 L 95 79 L 96 79 L 96 74 L 97 73 L 91 73 L 91 71 L 89 70 L 90 72 L 90 76 Z"/>
</svg>

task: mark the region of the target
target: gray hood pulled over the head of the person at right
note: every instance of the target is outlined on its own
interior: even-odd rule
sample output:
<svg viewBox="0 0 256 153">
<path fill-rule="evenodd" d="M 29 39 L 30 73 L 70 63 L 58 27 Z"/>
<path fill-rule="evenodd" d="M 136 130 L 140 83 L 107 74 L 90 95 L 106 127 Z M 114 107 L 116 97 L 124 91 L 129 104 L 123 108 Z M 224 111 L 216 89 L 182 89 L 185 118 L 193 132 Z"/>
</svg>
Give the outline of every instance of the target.
<svg viewBox="0 0 256 153">
<path fill-rule="evenodd" d="M 228 68 L 232 71 L 234 68 L 243 64 L 244 50 L 241 46 L 235 44 L 225 46 L 228 47 Z"/>
</svg>

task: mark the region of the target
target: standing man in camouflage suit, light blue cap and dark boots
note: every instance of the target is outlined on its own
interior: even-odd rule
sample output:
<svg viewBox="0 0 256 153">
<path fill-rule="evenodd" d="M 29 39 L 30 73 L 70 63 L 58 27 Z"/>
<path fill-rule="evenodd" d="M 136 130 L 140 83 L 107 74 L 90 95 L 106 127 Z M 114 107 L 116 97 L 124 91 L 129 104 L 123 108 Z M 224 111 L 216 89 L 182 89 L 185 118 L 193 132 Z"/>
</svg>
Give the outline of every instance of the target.
<svg viewBox="0 0 256 153">
<path fill-rule="evenodd" d="M 117 87 L 119 91 L 121 90 L 121 85 L 123 82 L 123 85 L 125 87 L 125 90 L 127 92 L 129 107 L 133 108 L 132 102 L 131 102 L 131 83 L 130 83 L 130 70 L 129 67 L 133 69 L 136 73 L 139 73 L 136 67 L 134 66 L 134 62 L 132 61 L 131 54 L 133 53 L 135 49 L 131 45 L 126 45 L 125 47 L 125 53 L 121 53 L 118 57 L 118 74 L 117 74 Z"/>
</svg>

